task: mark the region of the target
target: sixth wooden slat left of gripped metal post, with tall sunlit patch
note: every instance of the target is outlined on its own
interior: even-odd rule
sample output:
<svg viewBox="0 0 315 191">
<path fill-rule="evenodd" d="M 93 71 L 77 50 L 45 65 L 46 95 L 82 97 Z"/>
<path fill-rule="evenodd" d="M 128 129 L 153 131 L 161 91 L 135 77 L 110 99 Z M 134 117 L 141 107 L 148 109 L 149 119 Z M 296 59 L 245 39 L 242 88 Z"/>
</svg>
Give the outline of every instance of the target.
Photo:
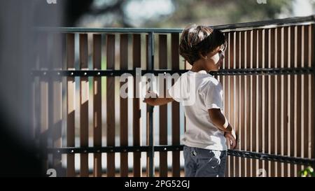
<svg viewBox="0 0 315 191">
<path fill-rule="evenodd" d="M 74 34 L 66 34 L 66 68 L 74 69 Z M 66 146 L 74 147 L 74 112 L 75 81 L 74 77 L 66 77 Z M 66 176 L 75 176 L 74 154 L 66 155 Z"/>
</svg>

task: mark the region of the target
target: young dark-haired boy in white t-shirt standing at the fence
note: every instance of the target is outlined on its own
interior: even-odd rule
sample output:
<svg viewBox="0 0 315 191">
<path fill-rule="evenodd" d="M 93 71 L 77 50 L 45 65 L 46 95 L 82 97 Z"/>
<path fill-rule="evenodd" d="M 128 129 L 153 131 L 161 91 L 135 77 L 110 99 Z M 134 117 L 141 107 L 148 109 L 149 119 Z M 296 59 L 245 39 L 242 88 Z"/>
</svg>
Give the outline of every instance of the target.
<svg viewBox="0 0 315 191">
<path fill-rule="evenodd" d="M 174 100 L 182 102 L 186 116 L 182 140 L 185 176 L 224 176 L 226 139 L 232 149 L 237 143 L 235 132 L 222 113 L 221 83 L 209 74 L 209 71 L 218 71 L 223 63 L 225 45 L 221 31 L 196 25 L 186 27 L 181 35 L 179 54 L 192 69 L 176 80 L 167 91 L 169 97 L 144 99 L 152 106 Z"/>
</svg>

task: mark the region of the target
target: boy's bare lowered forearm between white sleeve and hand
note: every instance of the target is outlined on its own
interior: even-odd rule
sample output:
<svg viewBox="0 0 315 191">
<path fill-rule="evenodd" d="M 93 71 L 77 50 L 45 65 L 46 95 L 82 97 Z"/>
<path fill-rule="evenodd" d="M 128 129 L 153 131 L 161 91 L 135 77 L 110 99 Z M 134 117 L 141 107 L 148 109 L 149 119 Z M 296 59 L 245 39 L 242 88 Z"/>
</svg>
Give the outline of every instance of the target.
<svg viewBox="0 0 315 191">
<path fill-rule="evenodd" d="M 228 120 L 225 118 L 223 113 L 221 113 L 220 108 L 211 108 L 208 110 L 209 116 L 214 122 L 214 125 L 218 127 L 218 129 L 221 129 L 223 132 L 231 133 L 232 132 L 232 126 L 228 122 Z"/>
</svg>

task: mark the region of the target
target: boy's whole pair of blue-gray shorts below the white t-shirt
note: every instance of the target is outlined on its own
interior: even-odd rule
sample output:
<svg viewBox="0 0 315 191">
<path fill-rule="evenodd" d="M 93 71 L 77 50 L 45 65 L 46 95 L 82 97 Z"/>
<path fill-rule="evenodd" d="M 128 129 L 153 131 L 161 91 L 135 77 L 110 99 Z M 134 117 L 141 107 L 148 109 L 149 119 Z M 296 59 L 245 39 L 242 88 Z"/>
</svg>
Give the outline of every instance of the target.
<svg viewBox="0 0 315 191">
<path fill-rule="evenodd" d="M 226 150 L 184 146 L 186 177 L 224 177 Z"/>
</svg>

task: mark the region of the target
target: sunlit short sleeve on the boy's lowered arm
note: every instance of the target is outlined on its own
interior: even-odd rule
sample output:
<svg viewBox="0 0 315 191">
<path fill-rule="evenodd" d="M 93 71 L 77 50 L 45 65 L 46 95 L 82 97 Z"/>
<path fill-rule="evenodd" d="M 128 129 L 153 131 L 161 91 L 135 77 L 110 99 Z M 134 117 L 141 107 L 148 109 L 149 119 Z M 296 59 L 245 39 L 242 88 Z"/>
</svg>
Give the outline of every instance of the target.
<svg viewBox="0 0 315 191">
<path fill-rule="evenodd" d="M 209 82 L 202 90 L 204 104 L 208 109 L 221 108 L 223 109 L 223 90 L 221 83 Z"/>
</svg>

